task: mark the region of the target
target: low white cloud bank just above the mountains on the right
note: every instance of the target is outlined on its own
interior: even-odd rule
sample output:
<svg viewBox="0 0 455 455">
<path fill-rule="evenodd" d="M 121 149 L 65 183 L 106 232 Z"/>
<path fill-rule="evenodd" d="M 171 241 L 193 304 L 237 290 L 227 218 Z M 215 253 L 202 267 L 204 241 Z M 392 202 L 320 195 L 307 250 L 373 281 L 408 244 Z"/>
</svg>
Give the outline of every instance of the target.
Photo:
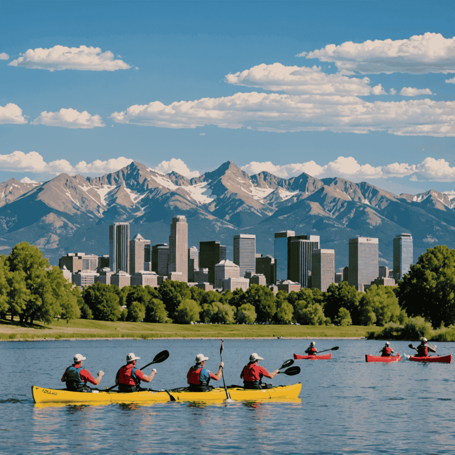
<svg viewBox="0 0 455 455">
<path fill-rule="evenodd" d="M 314 161 L 274 165 L 272 162 L 250 162 L 241 169 L 248 174 L 270 172 L 278 177 L 297 177 L 303 172 L 318 178 L 342 177 L 360 181 L 372 178 L 411 177 L 412 180 L 430 180 L 436 182 L 454 182 L 455 167 L 444 159 L 425 158 L 419 164 L 391 163 L 385 166 L 359 164 L 353 157 L 338 157 L 323 166 Z"/>
</svg>

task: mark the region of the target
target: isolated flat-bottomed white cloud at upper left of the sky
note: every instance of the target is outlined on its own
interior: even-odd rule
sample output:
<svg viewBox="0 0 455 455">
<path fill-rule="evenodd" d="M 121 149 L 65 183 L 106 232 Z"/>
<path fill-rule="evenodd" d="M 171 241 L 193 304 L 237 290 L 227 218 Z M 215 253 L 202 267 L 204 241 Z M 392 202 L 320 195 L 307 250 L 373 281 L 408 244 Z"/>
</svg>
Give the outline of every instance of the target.
<svg viewBox="0 0 455 455">
<path fill-rule="evenodd" d="M 11 61 L 10 66 L 25 66 L 42 70 L 89 70 L 115 71 L 131 68 L 121 60 L 114 60 L 111 51 L 101 52 L 99 47 L 66 47 L 56 45 L 50 49 L 29 49 L 18 59 Z"/>
</svg>

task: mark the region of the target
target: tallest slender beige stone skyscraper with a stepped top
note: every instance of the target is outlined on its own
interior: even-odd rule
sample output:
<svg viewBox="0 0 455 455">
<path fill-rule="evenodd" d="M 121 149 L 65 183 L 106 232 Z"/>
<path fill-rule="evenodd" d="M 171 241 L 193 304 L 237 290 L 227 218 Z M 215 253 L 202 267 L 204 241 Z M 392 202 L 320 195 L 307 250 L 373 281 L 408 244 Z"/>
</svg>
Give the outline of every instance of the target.
<svg viewBox="0 0 455 455">
<path fill-rule="evenodd" d="M 172 218 L 168 275 L 171 272 L 182 272 L 182 281 L 188 282 L 188 223 L 183 215 Z"/>
</svg>

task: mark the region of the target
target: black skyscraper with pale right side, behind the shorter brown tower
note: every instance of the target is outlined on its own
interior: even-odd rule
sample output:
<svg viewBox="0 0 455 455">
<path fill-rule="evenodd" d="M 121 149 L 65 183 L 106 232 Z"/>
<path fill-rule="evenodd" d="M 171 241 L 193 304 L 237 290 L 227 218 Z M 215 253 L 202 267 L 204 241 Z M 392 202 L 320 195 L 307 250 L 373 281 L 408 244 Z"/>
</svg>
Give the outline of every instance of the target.
<svg viewBox="0 0 455 455">
<path fill-rule="evenodd" d="M 319 235 L 288 237 L 288 280 L 300 283 L 302 288 L 308 288 L 308 272 L 311 274 L 311 253 L 319 248 L 319 244 Z"/>
</svg>

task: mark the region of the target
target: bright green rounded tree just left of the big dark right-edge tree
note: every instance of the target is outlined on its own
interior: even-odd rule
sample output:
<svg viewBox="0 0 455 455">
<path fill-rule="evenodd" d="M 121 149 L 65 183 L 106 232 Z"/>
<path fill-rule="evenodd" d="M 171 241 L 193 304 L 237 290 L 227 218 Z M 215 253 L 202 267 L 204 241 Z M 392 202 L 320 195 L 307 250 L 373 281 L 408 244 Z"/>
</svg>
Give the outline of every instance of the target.
<svg viewBox="0 0 455 455">
<path fill-rule="evenodd" d="M 362 325 L 384 326 L 388 322 L 398 323 L 401 308 L 392 286 L 372 284 L 359 302 L 359 320 Z"/>
</svg>

